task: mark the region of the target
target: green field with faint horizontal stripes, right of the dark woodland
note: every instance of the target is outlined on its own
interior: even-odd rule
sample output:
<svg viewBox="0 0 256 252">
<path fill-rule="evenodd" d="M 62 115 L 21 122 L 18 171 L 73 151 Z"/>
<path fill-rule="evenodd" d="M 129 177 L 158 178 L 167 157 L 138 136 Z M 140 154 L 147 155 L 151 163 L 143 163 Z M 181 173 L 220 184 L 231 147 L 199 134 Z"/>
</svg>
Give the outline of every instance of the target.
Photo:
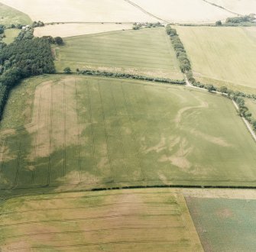
<svg viewBox="0 0 256 252">
<path fill-rule="evenodd" d="M 163 27 L 115 31 L 64 39 L 56 49 L 57 71 L 66 66 L 144 76 L 183 79 L 170 39 Z"/>
</svg>

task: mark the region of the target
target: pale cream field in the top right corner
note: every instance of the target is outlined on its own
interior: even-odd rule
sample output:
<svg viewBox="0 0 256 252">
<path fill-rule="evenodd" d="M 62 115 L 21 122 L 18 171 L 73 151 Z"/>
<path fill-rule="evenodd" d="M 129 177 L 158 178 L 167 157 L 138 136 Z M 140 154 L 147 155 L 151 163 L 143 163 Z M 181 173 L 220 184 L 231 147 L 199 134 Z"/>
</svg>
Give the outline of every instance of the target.
<svg viewBox="0 0 256 252">
<path fill-rule="evenodd" d="M 256 2 L 254 0 L 209 0 L 209 2 L 241 15 L 256 13 Z"/>
</svg>

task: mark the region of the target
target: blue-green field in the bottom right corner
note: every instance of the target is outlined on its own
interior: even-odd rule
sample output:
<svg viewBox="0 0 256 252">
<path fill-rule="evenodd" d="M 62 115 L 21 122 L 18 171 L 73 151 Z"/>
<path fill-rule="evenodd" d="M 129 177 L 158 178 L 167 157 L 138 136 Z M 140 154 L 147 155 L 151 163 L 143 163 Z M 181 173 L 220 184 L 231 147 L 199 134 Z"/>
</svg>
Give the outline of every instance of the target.
<svg viewBox="0 0 256 252">
<path fill-rule="evenodd" d="M 206 252 L 255 251 L 256 200 L 186 198 Z"/>
</svg>

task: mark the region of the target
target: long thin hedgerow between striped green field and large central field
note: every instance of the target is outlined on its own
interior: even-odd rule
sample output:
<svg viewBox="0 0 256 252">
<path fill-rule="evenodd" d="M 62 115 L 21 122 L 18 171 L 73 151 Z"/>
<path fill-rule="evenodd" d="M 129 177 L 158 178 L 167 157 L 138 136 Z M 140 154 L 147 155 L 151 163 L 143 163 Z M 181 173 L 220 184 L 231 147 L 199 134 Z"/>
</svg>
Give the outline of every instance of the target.
<svg viewBox="0 0 256 252">
<path fill-rule="evenodd" d="M 64 69 L 64 73 L 71 73 L 70 67 L 66 67 Z M 107 77 L 125 78 L 125 79 L 141 79 L 141 80 L 147 80 L 150 82 L 163 82 L 163 83 L 180 84 L 180 85 L 186 84 L 184 80 L 139 76 L 139 75 L 134 75 L 130 73 L 112 73 L 112 72 L 89 70 L 89 69 L 83 69 L 83 70 L 76 69 L 76 73 L 85 74 L 89 76 L 107 76 Z"/>
</svg>

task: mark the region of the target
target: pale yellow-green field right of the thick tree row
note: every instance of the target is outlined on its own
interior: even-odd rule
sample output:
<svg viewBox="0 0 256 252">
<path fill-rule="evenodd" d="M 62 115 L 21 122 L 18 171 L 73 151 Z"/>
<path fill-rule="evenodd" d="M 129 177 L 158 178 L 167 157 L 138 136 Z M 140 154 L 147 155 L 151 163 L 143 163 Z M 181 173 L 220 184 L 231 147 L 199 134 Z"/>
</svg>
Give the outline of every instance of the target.
<svg viewBox="0 0 256 252">
<path fill-rule="evenodd" d="M 256 93 L 256 44 L 241 27 L 177 27 L 196 79 Z"/>
</svg>

